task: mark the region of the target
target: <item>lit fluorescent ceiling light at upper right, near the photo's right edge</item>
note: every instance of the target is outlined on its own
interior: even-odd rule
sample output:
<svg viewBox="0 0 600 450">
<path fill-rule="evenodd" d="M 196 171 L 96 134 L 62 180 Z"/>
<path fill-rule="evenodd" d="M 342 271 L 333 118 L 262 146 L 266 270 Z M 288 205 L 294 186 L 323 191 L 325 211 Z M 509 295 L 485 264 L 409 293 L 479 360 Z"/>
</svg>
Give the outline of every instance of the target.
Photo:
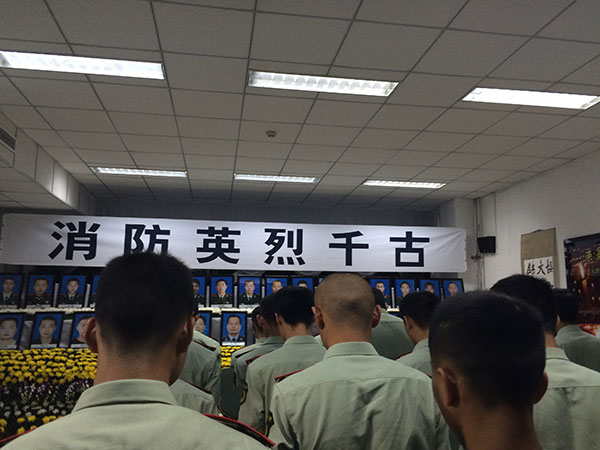
<svg viewBox="0 0 600 450">
<path fill-rule="evenodd" d="M 594 106 L 600 102 L 600 97 L 594 95 L 565 94 L 561 92 L 475 88 L 463 100 L 466 102 L 545 106 L 548 108 L 588 109 L 590 106 Z"/>
</svg>

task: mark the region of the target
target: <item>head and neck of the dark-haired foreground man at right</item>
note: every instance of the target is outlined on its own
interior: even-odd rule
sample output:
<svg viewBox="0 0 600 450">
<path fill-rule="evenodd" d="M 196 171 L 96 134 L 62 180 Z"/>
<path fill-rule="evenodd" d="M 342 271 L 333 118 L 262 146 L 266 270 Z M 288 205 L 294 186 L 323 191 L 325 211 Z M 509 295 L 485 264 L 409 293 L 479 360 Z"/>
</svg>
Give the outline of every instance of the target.
<svg viewBox="0 0 600 450">
<path fill-rule="evenodd" d="M 533 308 L 493 292 L 465 294 L 437 309 L 429 341 L 435 398 L 467 449 L 541 450 L 533 405 L 547 378 Z"/>
</svg>

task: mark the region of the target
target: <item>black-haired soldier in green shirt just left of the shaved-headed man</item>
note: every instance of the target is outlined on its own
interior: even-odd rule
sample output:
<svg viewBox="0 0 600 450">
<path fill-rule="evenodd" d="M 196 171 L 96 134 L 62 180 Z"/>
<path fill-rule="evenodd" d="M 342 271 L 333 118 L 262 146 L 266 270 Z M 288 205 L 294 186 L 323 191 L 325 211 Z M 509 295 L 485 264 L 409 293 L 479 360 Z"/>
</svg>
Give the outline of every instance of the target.
<svg viewBox="0 0 600 450">
<path fill-rule="evenodd" d="M 275 316 L 283 347 L 262 355 L 246 374 L 246 395 L 239 420 L 261 433 L 267 427 L 271 392 L 278 377 L 305 369 L 323 359 L 325 348 L 312 336 L 313 293 L 302 287 L 285 287 L 273 295 Z"/>
</svg>

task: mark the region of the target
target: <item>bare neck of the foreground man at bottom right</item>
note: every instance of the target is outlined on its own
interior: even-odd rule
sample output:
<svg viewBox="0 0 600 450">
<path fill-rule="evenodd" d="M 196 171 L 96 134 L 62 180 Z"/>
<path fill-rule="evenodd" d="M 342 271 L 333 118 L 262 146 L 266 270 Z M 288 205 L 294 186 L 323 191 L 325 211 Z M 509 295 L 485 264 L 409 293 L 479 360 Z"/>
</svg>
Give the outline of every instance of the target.
<svg viewBox="0 0 600 450">
<path fill-rule="evenodd" d="M 541 450 L 533 426 L 533 407 L 516 412 L 505 407 L 477 408 L 462 427 L 467 450 Z"/>
</svg>

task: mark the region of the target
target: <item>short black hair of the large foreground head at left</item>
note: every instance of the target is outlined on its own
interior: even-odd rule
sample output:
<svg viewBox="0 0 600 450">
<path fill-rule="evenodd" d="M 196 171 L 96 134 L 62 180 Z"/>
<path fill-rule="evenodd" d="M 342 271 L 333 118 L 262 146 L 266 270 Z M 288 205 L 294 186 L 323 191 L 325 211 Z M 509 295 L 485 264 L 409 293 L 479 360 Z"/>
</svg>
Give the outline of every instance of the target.
<svg viewBox="0 0 600 450">
<path fill-rule="evenodd" d="M 168 254 L 132 253 L 100 274 L 96 320 L 106 343 L 122 354 L 162 348 L 194 312 L 192 274 Z"/>
</svg>

